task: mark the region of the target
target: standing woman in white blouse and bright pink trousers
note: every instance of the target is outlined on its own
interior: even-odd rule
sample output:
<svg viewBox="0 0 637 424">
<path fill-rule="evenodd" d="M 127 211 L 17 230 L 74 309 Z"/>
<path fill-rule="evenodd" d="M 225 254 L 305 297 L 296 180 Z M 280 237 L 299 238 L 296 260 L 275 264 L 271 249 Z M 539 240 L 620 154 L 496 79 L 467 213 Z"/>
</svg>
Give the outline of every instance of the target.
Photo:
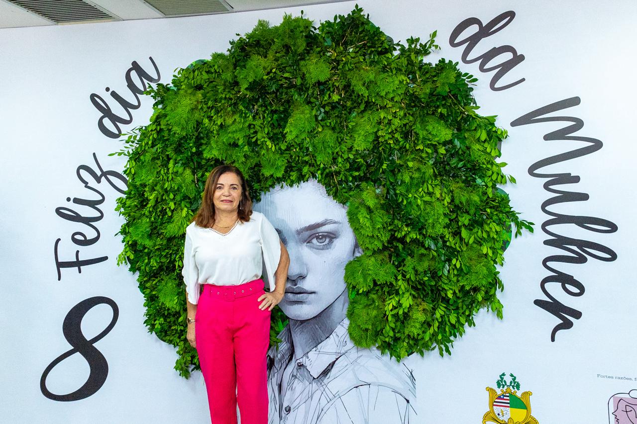
<svg viewBox="0 0 637 424">
<path fill-rule="evenodd" d="M 215 424 L 236 423 L 237 404 L 242 424 L 268 421 L 270 311 L 283 299 L 288 265 L 276 230 L 252 211 L 241 171 L 213 169 L 186 229 L 182 275 L 187 339 L 199 353 Z"/>
</svg>

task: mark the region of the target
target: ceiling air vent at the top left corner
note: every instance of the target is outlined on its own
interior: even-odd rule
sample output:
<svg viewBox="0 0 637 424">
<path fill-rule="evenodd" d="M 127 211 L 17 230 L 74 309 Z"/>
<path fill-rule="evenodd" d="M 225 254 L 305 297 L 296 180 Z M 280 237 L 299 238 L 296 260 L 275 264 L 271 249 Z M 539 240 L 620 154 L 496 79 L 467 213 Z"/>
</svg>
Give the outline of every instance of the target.
<svg viewBox="0 0 637 424">
<path fill-rule="evenodd" d="M 56 24 L 118 20 L 117 17 L 82 0 L 9 1 Z"/>
</svg>

